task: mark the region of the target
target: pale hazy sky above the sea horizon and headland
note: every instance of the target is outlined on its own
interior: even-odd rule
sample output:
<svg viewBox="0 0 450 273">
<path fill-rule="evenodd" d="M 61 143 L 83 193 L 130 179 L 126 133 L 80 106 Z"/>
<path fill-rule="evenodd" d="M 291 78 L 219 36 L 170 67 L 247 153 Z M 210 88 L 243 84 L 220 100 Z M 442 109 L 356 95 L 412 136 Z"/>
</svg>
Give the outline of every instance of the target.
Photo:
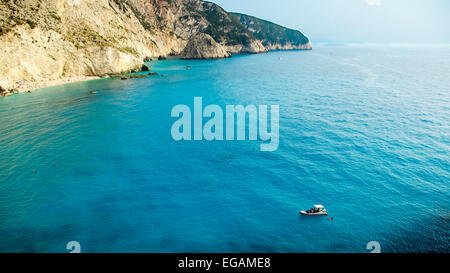
<svg viewBox="0 0 450 273">
<path fill-rule="evenodd" d="M 450 43 L 449 0 L 212 0 L 314 41 Z"/>
</svg>

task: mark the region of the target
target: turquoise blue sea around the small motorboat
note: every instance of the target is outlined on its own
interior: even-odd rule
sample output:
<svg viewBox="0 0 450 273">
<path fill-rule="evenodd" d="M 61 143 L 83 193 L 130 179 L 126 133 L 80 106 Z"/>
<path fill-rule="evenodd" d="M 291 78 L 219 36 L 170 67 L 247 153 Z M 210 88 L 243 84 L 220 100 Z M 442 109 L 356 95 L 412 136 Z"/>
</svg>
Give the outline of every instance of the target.
<svg viewBox="0 0 450 273">
<path fill-rule="evenodd" d="M 167 60 L 150 63 L 165 77 L 0 98 L 0 252 L 449 252 L 449 59 L 380 46 Z M 194 96 L 280 105 L 279 149 L 175 142 L 171 109 Z M 317 203 L 333 221 L 298 214 Z"/>
</svg>

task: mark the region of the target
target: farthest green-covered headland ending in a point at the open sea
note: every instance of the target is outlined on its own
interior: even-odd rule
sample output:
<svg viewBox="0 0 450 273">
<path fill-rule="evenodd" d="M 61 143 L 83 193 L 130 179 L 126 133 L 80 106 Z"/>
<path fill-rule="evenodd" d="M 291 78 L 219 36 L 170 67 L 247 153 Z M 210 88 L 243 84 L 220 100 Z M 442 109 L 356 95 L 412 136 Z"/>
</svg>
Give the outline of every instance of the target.
<svg viewBox="0 0 450 273">
<path fill-rule="evenodd" d="M 298 30 L 282 27 L 253 16 L 230 13 L 249 30 L 268 50 L 312 49 L 309 39 Z"/>
</svg>

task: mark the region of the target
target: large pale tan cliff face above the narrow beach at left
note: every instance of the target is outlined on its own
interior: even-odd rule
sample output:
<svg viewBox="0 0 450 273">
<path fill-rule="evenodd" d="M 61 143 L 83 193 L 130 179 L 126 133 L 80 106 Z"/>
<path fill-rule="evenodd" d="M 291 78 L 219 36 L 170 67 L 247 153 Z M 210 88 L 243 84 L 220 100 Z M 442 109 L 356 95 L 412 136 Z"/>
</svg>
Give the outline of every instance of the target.
<svg viewBox="0 0 450 273">
<path fill-rule="evenodd" d="M 108 0 L 2 0 L 0 85 L 139 68 L 165 48 L 130 8 Z"/>
</svg>

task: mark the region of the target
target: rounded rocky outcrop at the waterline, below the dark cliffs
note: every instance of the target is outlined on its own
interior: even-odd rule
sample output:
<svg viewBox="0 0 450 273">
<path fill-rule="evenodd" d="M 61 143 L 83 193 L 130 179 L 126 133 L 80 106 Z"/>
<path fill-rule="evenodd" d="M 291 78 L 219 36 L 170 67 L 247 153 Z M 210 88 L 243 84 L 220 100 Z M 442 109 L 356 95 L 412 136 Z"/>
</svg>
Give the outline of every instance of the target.
<svg viewBox="0 0 450 273">
<path fill-rule="evenodd" d="M 181 58 L 183 59 L 218 59 L 229 58 L 230 53 L 210 35 L 198 33 L 186 45 Z"/>
</svg>

